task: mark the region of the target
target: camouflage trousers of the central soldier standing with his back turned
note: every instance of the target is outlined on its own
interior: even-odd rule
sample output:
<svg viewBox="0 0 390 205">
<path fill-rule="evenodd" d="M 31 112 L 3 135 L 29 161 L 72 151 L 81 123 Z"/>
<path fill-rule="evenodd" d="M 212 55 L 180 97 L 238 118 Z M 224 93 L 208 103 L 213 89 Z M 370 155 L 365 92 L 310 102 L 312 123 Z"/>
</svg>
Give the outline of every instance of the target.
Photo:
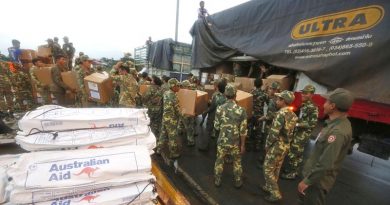
<svg viewBox="0 0 390 205">
<path fill-rule="evenodd" d="M 242 175 L 241 154 L 238 145 L 218 145 L 217 159 L 215 160 L 214 176 L 221 178 L 226 155 L 230 155 L 233 161 L 234 180 L 240 181 Z"/>
</svg>

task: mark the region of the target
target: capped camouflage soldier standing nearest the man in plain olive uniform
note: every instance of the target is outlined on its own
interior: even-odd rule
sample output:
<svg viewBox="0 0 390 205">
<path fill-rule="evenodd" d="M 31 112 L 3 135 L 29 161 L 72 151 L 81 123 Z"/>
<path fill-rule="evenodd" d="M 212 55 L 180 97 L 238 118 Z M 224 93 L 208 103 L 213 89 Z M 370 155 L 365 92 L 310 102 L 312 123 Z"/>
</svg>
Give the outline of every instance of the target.
<svg viewBox="0 0 390 205">
<path fill-rule="evenodd" d="M 318 107 L 312 101 L 315 87 L 307 85 L 302 91 L 302 106 L 299 120 L 295 126 L 293 141 L 288 153 L 288 170 L 280 177 L 284 179 L 295 179 L 298 176 L 298 169 L 303 161 L 303 151 L 310 139 L 313 129 L 317 125 Z"/>
</svg>

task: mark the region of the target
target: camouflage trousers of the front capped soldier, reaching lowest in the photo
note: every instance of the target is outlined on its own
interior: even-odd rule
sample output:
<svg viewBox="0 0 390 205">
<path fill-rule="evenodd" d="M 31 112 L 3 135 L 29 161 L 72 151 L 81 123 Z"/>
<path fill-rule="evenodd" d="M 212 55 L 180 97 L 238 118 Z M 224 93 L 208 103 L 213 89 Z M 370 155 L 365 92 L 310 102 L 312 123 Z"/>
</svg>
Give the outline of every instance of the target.
<svg viewBox="0 0 390 205">
<path fill-rule="evenodd" d="M 263 165 L 265 187 L 272 197 L 279 199 L 282 198 L 278 186 L 279 173 L 289 148 L 290 145 L 282 141 L 276 141 L 270 147 L 266 147 Z"/>
</svg>

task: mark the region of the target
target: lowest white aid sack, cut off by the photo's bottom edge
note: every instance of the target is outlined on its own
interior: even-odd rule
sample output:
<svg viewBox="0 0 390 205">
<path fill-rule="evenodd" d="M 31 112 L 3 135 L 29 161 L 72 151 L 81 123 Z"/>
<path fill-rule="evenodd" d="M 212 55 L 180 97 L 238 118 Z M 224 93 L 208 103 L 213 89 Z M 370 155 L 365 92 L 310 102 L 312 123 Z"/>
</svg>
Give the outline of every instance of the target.
<svg viewBox="0 0 390 205">
<path fill-rule="evenodd" d="M 153 184 L 137 182 L 125 186 L 104 187 L 86 193 L 69 195 L 52 201 L 36 203 L 35 205 L 82 205 L 82 204 L 150 204 L 156 195 L 153 193 Z"/>
</svg>

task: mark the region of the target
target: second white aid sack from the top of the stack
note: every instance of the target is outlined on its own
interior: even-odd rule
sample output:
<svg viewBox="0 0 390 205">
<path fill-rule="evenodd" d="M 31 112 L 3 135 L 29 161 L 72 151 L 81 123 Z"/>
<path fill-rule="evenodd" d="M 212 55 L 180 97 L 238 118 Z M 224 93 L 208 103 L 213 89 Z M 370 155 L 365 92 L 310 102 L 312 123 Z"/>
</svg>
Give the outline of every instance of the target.
<svg viewBox="0 0 390 205">
<path fill-rule="evenodd" d="M 18 135 L 15 139 L 17 144 L 28 151 L 144 145 L 153 153 L 152 149 L 156 146 L 156 138 L 147 125 L 61 131 L 56 137 L 51 133 Z"/>
</svg>

